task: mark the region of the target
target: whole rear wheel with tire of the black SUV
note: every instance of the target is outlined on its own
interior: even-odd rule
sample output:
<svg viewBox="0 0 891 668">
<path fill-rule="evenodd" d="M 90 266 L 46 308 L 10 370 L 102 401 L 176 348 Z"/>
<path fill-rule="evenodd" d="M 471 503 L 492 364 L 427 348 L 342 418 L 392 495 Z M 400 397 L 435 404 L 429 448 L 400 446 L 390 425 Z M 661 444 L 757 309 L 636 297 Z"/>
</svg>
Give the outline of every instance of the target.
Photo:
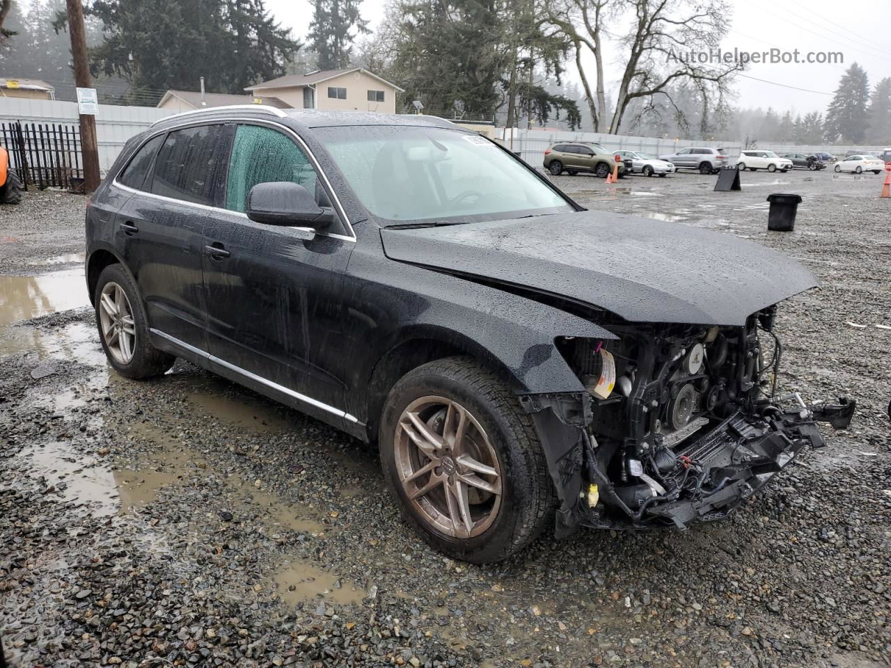
<svg viewBox="0 0 891 668">
<path fill-rule="evenodd" d="M 147 379 L 173 366 L 176 357 L 151 345 L 143 302 L 123 265 L 99 274 L 94 304 L 102 350 L 121 376 Z"/>
</svg>

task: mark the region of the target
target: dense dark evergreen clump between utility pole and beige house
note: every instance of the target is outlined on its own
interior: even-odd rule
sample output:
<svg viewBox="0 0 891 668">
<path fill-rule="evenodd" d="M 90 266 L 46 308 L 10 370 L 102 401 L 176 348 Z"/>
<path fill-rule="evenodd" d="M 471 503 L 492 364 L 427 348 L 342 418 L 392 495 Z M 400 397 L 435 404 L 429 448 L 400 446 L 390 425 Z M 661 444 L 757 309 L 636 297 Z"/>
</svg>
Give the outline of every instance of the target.
<svg viewBox="0 0 891 668">
<path fill-rule="evenodd" d="M 90 50 L 94 74 L 124 77 L 136 89 L 243 93 L 281 76 L 300 48 L 263 0 L 95 0 L 105 41 Z"/>
</svg>

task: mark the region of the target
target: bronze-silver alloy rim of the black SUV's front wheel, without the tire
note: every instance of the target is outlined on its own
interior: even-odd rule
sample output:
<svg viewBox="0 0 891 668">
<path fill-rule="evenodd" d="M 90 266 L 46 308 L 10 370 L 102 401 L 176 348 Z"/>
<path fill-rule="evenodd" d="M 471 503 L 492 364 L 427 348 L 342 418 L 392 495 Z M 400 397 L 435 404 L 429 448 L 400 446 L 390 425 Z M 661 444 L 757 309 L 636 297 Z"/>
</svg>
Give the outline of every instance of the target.
<svg viewBox="0 0 891 668">
<path fill-rule="evenodd" d="M 498 516 L 501 464 L 486 430 L 460 403 L 423 396 L 396 426 L 396 473 L 421 519 L 442 534 L 472 538 Z"/>
</svg>

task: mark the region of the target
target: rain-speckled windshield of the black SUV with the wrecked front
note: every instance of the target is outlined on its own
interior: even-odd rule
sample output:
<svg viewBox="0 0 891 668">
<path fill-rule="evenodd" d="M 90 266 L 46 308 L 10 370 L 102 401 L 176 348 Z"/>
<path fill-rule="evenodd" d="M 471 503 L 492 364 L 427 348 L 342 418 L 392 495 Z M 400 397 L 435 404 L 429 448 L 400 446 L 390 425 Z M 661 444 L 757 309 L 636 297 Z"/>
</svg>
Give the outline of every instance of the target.
<svg viewBox="0 0 891 668">
<path fill-rule="evenodd" d="M 316 133 L 363 206 L 390 222 L 471 222 L 572 211 L 478 134 L 445 127 L 340 126 Z"/>
</svg>

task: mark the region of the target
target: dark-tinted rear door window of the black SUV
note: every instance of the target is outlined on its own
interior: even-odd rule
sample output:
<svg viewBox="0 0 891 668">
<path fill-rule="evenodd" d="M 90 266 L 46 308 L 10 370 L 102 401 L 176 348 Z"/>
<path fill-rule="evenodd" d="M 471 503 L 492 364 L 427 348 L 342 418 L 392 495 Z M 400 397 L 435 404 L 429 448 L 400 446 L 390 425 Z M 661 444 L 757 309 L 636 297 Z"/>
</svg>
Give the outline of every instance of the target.
<svg viewBox="0 0 891 668">
<path fill-rule="evenodd" d="M 176 200 L 212 206 L 219 144 L 224 126 L 174 130 L 155 160 L 151 191 Z"/>
</svg>

